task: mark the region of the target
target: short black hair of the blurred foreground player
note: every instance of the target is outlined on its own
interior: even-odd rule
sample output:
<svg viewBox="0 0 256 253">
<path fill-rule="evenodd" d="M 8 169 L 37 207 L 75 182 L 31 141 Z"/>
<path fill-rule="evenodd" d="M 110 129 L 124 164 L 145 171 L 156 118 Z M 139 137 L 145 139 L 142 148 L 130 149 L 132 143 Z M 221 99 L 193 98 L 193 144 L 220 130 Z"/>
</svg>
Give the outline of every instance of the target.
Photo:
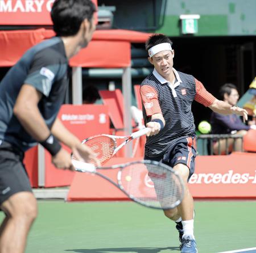
<svg viewBox="0 0 256 253">
<path fill-rule="evenodd" d="M 76 35 L 85 19 L 91 22 L 94 12 L 96 7 L 90 0 L 56 0 L 51 10 L 56 36 Z"/>
</svg>

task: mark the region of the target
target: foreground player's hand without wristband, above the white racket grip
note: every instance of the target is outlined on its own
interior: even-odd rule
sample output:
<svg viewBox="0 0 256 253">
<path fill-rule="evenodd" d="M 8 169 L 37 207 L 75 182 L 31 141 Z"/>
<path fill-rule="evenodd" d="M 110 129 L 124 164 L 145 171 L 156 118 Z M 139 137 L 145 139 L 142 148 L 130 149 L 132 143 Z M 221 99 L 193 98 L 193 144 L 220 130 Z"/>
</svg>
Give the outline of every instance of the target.
<svg viewBox="0 0 256 253">
<path fill-rule="evenodd" d="M 82 162 L 87 163 L 95 163 L 97 167 L 101 166 L 100 161 L 97 159 L 96 154 L 93 153 L 92 150 L 85 144 L 77 144 L 72 149 L 72 154 L 75 155 L 75 157 Z"/>
</svg>

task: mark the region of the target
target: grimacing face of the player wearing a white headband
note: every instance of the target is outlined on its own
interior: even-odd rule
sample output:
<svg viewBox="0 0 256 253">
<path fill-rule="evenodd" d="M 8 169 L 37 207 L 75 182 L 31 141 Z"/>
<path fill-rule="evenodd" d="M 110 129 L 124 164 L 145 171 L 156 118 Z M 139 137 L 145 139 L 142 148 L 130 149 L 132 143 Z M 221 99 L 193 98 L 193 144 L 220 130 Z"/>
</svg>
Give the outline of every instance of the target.
<svg viewBox="0 0 256 253">
<path fill-rule="evenodd" d="M 162 77 L 167 78 L 172 73 L 172 66 L 174 65 L 174 61 L 172 60 L 173 55 L 173 50 L 163 50 L 159 53 L 156 53 L 151 58 L 148 57 L 148 61 L 154 65 L 156 71 L 158 71 Z"/>
</svg>

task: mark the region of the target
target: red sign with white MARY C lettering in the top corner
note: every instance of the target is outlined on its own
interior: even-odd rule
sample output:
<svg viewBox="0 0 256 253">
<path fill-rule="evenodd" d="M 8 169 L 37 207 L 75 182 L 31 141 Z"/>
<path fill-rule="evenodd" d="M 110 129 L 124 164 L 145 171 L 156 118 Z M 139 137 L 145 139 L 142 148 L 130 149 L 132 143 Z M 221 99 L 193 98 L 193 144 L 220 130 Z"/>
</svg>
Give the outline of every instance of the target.
<svg viewBox="0 0 256 253">
<path fill-rule="evenodd" d="M 51 25 L 54 0 L 1 0 L 0 25 Z M 97 0 L 92 0 L 97 6 Z"/>
</svg>

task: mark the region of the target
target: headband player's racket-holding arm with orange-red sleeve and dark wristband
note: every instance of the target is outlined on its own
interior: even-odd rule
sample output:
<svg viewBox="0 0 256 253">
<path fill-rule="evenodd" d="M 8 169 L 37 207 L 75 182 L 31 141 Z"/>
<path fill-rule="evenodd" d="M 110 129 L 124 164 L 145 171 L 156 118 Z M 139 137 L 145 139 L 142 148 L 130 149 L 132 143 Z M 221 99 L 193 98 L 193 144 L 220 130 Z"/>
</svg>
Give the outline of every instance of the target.
<svg viewBox="0 0 256 253">
<path fill-rule="evenodd" d="M 164 128 L 164 125 L 166 125 L 166 121 L 164 120 L 159 106 L 158 93 L 154 87 L 143 85 L 141 87 L 141 98 L 147 116 L 151 117 L 151 121 L 146 124 L 147 128 L 151 129 L 151 132 L 148 132 L 147 136 L 153 136 L 158 134 L 159 131 Z"/>
</svg>

